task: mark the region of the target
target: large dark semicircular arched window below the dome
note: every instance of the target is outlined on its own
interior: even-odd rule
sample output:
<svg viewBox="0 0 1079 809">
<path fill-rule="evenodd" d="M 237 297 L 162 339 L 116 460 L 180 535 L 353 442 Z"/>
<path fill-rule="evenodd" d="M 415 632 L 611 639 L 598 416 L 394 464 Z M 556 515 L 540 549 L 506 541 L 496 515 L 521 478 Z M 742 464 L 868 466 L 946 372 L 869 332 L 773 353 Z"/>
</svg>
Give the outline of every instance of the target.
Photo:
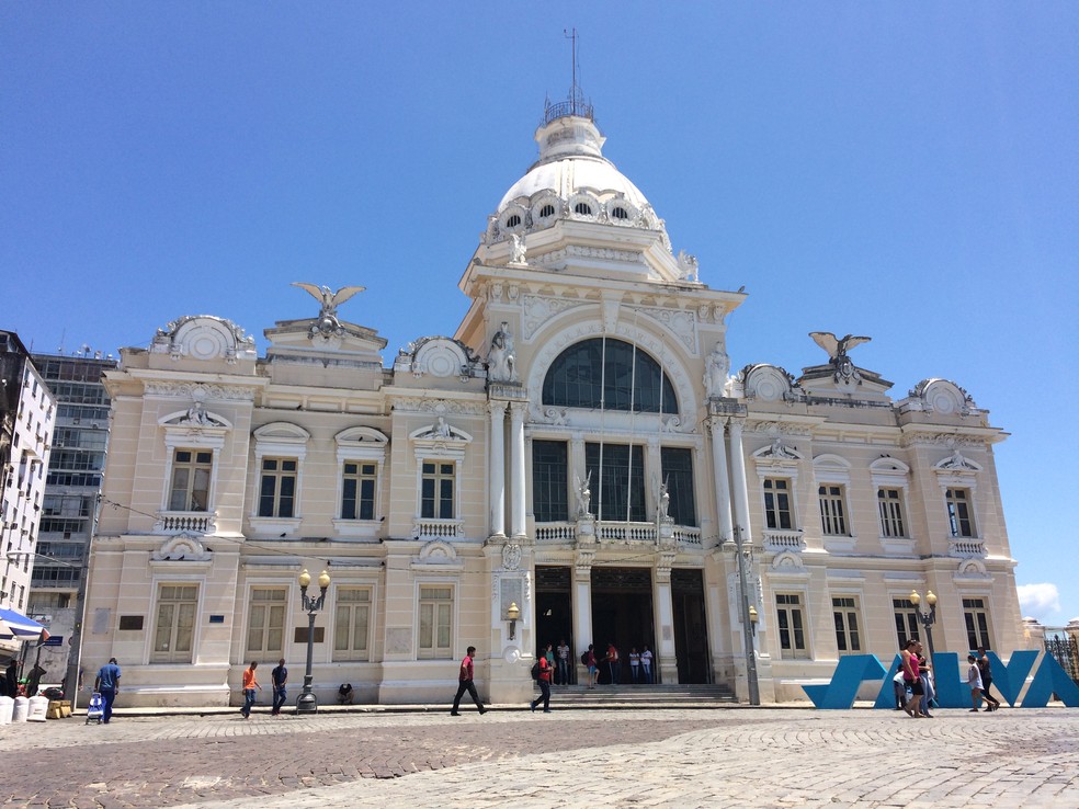
<svg viewBox="0 0 1079 809">
<path fill-rule="evenodd" d="M 569 408 L 677 413 L 674 386 L 632 343 L 595 338 L 570 345 L 543 380 L 543 403 Z"/>
</svg>

